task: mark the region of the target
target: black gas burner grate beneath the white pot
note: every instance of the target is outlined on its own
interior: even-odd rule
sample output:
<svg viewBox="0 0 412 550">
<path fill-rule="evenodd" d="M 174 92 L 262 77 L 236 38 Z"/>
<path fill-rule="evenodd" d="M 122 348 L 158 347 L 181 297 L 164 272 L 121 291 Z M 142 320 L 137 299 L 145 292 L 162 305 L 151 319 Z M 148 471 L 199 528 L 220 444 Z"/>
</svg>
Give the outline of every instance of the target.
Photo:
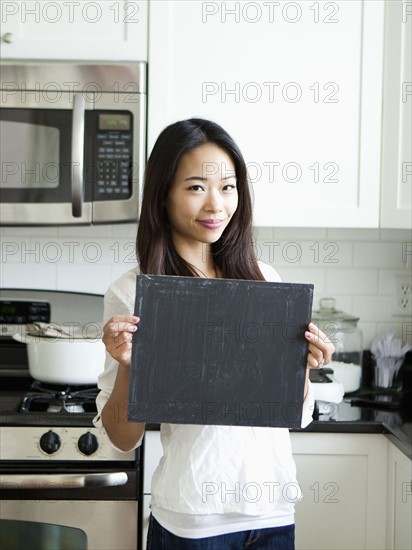
<svg viewBox="0 0 412 550">
<path fill-rule="evenodd" d="M 98 389 L 95 386 L 53 387 L 34 382 L 30 391 L 23 397 L 20 412 L 47 414 L 81 414 L 96 412 L 96 397 Z"/>
</svg>

